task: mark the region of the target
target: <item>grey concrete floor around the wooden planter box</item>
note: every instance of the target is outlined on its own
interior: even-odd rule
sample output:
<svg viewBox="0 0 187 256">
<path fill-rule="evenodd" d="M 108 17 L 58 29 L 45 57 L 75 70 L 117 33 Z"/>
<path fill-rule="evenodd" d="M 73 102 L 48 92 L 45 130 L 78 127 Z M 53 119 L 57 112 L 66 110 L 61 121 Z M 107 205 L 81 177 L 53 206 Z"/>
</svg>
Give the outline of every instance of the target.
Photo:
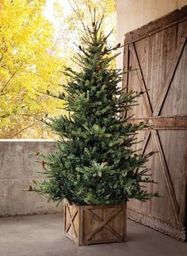
<svg viewBox="0 0 187 256">
<path fill-rule="evenodd" d="M 128 242 L 76 246 L 63 235 L 63 216 L 0 218 L 0 256 L 185 256 L 187 243 L 128 220 Z"/>
</svg>

